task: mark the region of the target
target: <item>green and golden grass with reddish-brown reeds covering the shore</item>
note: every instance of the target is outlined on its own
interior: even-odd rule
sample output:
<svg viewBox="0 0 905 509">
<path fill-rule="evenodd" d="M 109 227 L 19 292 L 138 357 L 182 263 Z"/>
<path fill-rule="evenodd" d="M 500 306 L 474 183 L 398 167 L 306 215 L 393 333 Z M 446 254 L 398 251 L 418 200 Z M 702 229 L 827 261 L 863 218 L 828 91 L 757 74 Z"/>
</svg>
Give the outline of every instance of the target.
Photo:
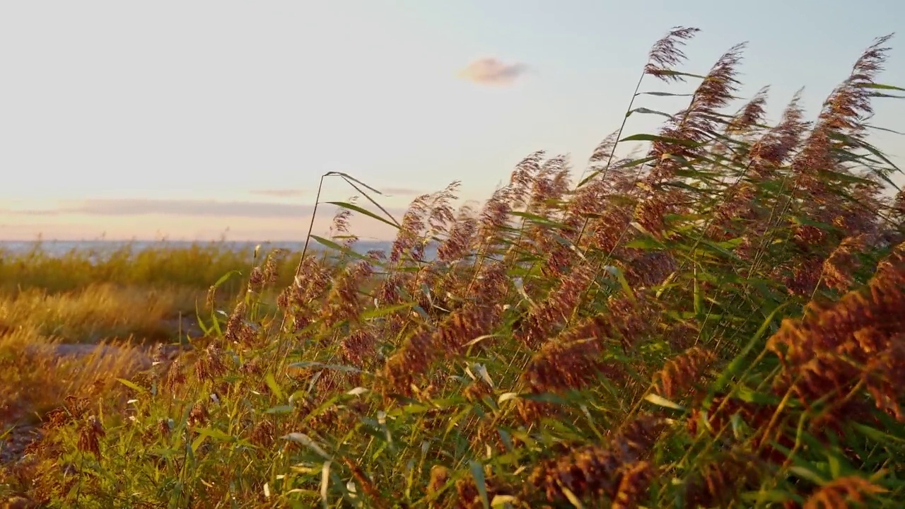
<svg viewBox="0 0 905 509">
<path fill-rule="evenodd" d="M 696 32 L 672 30 L 643 69 L 639 91 L 696 83 L 658 134 L 620 128 L 577 182 L 567 158 L 531 154 L 480 209 L 453 208 L 456 183 L 398 222 L 349 205 L 332 238 L 315 239 L 337 256 L 258 258 L 225 294 L 231 307 L 198 305 L 195 350 L 172 362 L 76 370 L 23 345 L 81 334 L 108 309 L 144 329 L 187 297 L 125 312 L 102 292 L 198 290 L 237 259 L 14 264 L 5 282 L 78 289 L 54 302 L 79 304 L 52 314 L 25 292 L 0 308 L 29 325 L 2 340 L 0 377 L 41 388 L 26 403 L 42 429 L 3 466 L 0 495 L 61 507 L 900 506 L 905 195 L 866 120 L 903 90 L 875 81 L 888 38 L 815 122 L 795 96 L 766 125 L 766 90 L 723 112 L 741 46 L 704 76 L 678 70 Z M 628 113 L 667 93 L 639 91 Z M 632 141 L 649 151 L 616 157 Z M 398 228 L 389 253 L 350 248 L 353 211 Z M 205 256 L 217 262 L 198 265 Z"/>
</svg>

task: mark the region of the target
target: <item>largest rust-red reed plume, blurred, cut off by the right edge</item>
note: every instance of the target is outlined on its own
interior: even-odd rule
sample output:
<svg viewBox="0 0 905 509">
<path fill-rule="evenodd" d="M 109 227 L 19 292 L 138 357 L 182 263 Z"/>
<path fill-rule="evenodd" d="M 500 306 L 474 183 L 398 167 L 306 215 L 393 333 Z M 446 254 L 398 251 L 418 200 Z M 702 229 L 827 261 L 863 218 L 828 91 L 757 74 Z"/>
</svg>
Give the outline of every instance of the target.
<svg viewBox="0 0 905 509">
<path fill-rule="evenodd" d="M 774 381 L 780 393 L 794 391 L 802 401 L 822 399 L 834 390 L 834 415 L 843 416 L 846 396 L 862 383 L 877 408 L 905 421 L 900 394 L 905 384 L 905 264 L 891 263 L 864 291 L 846 293 L 838 303 L 786 319 L 767 341 L 785 370 Z M 831 413 L 831 412 L 827 412 Z"/>
</svg>

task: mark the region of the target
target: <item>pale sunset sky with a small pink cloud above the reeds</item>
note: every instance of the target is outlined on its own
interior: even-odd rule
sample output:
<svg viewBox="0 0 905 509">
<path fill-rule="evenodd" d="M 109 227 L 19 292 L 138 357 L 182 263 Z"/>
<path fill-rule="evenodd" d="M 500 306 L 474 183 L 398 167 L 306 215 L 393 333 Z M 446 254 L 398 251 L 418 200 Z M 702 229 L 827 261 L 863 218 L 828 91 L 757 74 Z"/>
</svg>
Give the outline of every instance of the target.
<svg viewBox="0 0 905 509">
<path fill-rule="evenodd" d="M 3 2 L 0 239 L 299 240 L 328 171 L 398 216 L 452 180 L 483 200 L 538 149 L 580 173 L 675 25 L 701 29 L 690 72 L 747 41 L 739 95 L 770 85 L 777 120 L 801 87 L 813 119 L 902 19 L 900 0 Z M 891 46 L 880 81 L 905 86 L 905 34 Z M 905 131 L 905 101 L 875 105 L 873 123 Z M 624 135 L 659 123 L 633 116 Z M 902 139 L 873 141 L 905 167 Z M 328 178 L 322 199 L 352 195 Z"/>
</svg>

